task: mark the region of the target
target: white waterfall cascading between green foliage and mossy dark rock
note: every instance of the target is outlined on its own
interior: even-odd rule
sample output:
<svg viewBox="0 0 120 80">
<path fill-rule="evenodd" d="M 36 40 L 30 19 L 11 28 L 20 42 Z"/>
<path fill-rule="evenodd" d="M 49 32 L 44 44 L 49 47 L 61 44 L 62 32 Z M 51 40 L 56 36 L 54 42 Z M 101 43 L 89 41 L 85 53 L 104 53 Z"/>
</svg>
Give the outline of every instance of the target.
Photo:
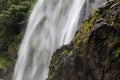
<svg viewBox="0 0 120 80">
<path fill-rule="evenodd" d="M 72 40 L 96 2 L 38 0 L 19 49 L 13 80 L 45 80 L 52 53 Z"/>
</svg>

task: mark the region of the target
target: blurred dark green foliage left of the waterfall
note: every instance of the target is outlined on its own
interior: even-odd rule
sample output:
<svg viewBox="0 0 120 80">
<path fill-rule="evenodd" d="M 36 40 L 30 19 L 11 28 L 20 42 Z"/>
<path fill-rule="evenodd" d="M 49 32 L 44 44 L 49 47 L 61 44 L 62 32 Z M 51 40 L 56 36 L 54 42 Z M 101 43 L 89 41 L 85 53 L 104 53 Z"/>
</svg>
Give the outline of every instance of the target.
<svg viewBox="0 0 120 80">
<path fill-rule="evenodd" d="M 0 79 L 11 80 L 34 0 L 0 0 Z"/>
</svg>

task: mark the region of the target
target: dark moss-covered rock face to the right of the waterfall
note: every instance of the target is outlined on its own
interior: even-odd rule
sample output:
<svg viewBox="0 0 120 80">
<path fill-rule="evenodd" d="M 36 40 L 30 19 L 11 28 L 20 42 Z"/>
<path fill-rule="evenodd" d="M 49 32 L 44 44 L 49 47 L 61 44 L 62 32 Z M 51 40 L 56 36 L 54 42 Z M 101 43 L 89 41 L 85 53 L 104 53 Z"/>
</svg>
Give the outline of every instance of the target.
<svg viewBox="0 0 120 80">
<path fill-rule="evenodd" d="M 93 11 L 49 69 L 47 80 L 120 80 L 120 0 Z"/>
</svg>

